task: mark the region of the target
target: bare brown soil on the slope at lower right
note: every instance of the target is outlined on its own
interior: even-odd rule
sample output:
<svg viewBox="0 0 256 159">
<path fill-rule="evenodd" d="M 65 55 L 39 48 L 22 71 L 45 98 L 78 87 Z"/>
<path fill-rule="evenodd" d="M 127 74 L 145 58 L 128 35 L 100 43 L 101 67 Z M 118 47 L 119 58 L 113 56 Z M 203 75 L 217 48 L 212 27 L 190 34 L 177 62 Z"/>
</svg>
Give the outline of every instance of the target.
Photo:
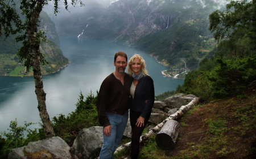
<svg viewBox="0 0 256 159">
<path fill-rule="evenodd" d="M 226 125 L 230 130 L 232 130 L 233 127 L 238 127 L 242 121 L 241 118 L 234 117 L 235 111 L 251 105 L 253 110 L 251 110 L 250 114 L 247 114 L 247 117 L 252 121 L 252 128 L 248 128 L 244 135 L 237 133 L 236 131 L 227 131 L 224 134 L 225 136 L 228 136 L 226 137 L 228 145 L 237 149 L 237 151 L 228 153 L 224 157 L 217 156 L 216 152 L 212 152 L 207 158 L 254 158 L 256 156 L 255 90 L 247 93 L 246 96 L 247 98 L 243 100 L 233 97 L 229 100 L 220 100 L 201 105 L 193 111 L 192 114 L 187 115 L 185 120 L 181 118 L 179 121 L 185 121 L 187 126 L 181 126 L 180 137 L 176 142 L 175 148 L 167 150 L 166 156 L 181 157 L 181 151 L 188 151 L 193 146 L 195 147 L 196 145 L 208 142 L 207 140 L 213 135 L 209 134 L 209 126 L 205 122 L 207 119 L 223 119 L 228 122 Z M 193 145 L 188 143 L 193 143 Z"/>
</svg>

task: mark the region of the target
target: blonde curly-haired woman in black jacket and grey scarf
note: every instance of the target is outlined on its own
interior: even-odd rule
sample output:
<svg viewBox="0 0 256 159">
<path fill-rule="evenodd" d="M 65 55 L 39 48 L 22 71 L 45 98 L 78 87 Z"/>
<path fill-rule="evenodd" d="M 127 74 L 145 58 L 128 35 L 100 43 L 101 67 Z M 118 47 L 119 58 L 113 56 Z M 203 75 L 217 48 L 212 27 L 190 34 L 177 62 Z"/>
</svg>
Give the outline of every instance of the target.
<svg viewBox="0 0 256 159">
<path fill-rule="evenodd" d="M 135 54 L 128 63 L 128 73 L 133 76 L 130 94 L 131 158 L 138 158 L 139 138 L 144 130 L 155 100 L 154 82 L 147 74 L 146 63 L 141 55 Z"/>
</svg>

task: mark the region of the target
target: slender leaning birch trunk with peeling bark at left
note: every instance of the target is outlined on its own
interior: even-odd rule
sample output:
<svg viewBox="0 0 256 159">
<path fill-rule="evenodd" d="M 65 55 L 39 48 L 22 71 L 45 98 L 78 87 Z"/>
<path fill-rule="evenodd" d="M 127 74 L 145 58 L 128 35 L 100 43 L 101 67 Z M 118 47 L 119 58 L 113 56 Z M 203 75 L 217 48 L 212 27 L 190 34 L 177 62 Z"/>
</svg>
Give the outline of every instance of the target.
<svg viewBox="0 0 256 159">
<path fill-rule="evenodd" d="M 28 22 L 28 42 L 31 46 L 32 52 L 32 67 L 34 71 L 34 79 L 35 79 L 35 93 L 36 98 L 38 100 L 38 110 L 39 115 L 43 123 L 44 134 L 46 137 L 54 136 L 54 131 L 52 128 L 51 120 L 49 118 L 49 114 L 46 109 L 46 93 L 43 89 L 43 80 L 42 73 L 40 68 L 40 50 L 38 44 L 38 40 L 36 39 L 36 33 L 38 30 L 38 18 L 39 14 L 42 11 L 44 0 L 38 0 L 35 10 L 30 15 L 30 20 Z"/>
</svg>

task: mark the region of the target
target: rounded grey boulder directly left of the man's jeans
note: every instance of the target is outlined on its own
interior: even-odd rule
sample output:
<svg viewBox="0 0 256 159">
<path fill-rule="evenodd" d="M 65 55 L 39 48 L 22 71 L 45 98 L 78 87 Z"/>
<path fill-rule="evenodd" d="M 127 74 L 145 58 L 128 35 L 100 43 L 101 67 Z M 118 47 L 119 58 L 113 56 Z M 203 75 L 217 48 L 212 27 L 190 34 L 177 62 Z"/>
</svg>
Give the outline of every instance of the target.
<svg viewBox="0 0 256 159">
<path fill-rule="evenodd" d="M 79 158 L 96 158 L 103 144 L 103 127 L 93 126 L 82 129 L 77 135 L 72 148 Z"/>
</svg>

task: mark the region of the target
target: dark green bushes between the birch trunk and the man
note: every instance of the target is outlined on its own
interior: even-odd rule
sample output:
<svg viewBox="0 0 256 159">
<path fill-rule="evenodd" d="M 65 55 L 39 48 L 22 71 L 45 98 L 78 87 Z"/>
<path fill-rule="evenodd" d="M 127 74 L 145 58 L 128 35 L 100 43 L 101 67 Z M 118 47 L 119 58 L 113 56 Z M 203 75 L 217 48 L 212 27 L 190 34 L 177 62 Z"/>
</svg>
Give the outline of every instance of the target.
<svg viewBox="0 0 256 159">
<path fill-rule="evenodd" d="M 60 114 L 59 117 L 53 117 L 55 135 L 61 136 L 67 143 L 71 143 L 75 139 L 77 132 L 82 128 L 100 126 L 96 101 L 97 96 L 94 97 L 92 92 L 88 94 L 85 100 L 84 95 L 80 92 L 75 111 L 69 113 L 67 117 L 63 114 Z"/>
</svg>

